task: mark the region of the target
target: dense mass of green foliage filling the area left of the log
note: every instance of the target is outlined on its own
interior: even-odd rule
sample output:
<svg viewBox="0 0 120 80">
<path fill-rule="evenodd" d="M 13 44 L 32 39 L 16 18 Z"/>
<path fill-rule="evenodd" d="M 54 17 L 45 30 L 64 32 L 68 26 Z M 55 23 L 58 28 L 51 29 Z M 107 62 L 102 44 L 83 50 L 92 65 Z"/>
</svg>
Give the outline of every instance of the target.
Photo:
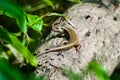
<svg viewBox="0 0 120 80">
<path fill-rule="evenodd" d="M 3 72 L 1 79 L 5 78 L 4 73 L 9 75 L 12 80 L 26 79 L 21 72 L 16 71 L 16 69 L 14 69 L 8 62 L 11 61 L 11 64 L 17 62 L 14 63 L 14 65 L 19 66 L 21 64 L 30 63 L 32 66 L 37 67 L 38 61 L 31 53 L 29 46 L 31 46 L 32 43 L 37 44 L 35 43 L 36 39 L 38 39 L 36 37 L 40 35 L 40 38 L 42 38 L 43 32 L 49 28 L 49 21 L 52 19 L 49 16 L 63 16 L 59 13 L 51 13 L 51 11 L 55 10 L 55 4 L 61 5 L 62 1 L 34 0 L 35 2 L 30 1 L 30 3 L 26 1 L 18 2 L 17 0 L 0 0 L 0 15 L 3 17 L 1 20 L 6 19 L 7 17 L 6 23 L 8 23 L 6 25 L 5 22 L 0 23 L 0 64 L 2 65 L 0 66 L 0 74 Z M 32 5 L 33 2 L 35 3 L 35 6 Z M 23 9 L 16 3 L 20 3 L 19 5 L 21 5 Z M 28 3 L 32 8 L 25 8 L 24 5 L 27 5 Z M 46 9 L 46 11 L 43 11 L 43 9 Z M 39 10 L 42 11 L 42 14 L 40 15 L 36 14 Z M 35 14 L 31 14 L 31 12 Z M 49 18 L 46 19 L 46 16 Z M 12 25 L 9 25 L 9 22 L 12 22 Z M 17 23 L 17 25 L 14 25 L 13 23 Z M 43 26 L 46 26 L 46 28 L 43 28 Z M 17 33 L 16 31 L 15 33 L 12 31 L 13 27 L 16 27 Z M 17 27 L 19 30 L 17 30 Z M 36 36 L 29 36 L 28 32 L 31 34 L 35 33 L 34 35 Z M 33 46 L 36 47 L 36 45 Z M 12 74 L 10 74 L 11 70 L 13 71 Z"/>
</svg>

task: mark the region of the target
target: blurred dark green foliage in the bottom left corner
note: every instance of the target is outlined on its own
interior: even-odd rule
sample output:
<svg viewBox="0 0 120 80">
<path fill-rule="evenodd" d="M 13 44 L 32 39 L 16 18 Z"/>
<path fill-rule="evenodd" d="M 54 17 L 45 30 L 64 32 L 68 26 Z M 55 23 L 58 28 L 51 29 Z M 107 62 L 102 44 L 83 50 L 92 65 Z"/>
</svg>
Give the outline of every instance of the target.
<svg viewBox="0 0 120 80">
<path fill-rule="evenodd" d="M 10 65 L 10 63 L 6 59 L 0 58 L 0 80 L 46 80 L 46 79 L 44 76 L 35 78 L 35 76 L 30 75 L 29 77 L 26 77 L 25 73 L 22 73 L 20 70 L 14 68 L 12 65 Z"/>
</svg>

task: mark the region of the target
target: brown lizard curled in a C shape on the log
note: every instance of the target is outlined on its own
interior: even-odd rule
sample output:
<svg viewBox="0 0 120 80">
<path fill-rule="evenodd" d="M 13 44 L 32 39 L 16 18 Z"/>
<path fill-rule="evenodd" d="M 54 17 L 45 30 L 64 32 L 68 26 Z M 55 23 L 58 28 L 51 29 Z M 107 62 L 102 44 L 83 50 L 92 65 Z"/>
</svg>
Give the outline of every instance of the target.
<svg viewBox="0 0 120 80">
<path fill-rule="evenodd" d="M 63 45 L 63 46 L 60 46 L 60 47 L 56 47 L 56 48 L 53 48 L 53 49 L 46 50 L 46 51 L 38 54 L 37 56 L 40 56 L 40 55 L 42 55 L 44 53 L 48 53 L 48 52 L 67 50 L 67 49 L 70 49 L 72 47 L 76 47 L 77 50 L 81 48 L 81 44 L 78 43 L 77 34 L 72 28 L 53 26 L 52 30 L 53 31 L 59 31 L 58 28 L 64 29 L 64 30 L 66 30 L 68 32 L 69 37 L 70 37 L 69 40 L 68 40 L 68 43 L 66 45 Z"/>
</svg>

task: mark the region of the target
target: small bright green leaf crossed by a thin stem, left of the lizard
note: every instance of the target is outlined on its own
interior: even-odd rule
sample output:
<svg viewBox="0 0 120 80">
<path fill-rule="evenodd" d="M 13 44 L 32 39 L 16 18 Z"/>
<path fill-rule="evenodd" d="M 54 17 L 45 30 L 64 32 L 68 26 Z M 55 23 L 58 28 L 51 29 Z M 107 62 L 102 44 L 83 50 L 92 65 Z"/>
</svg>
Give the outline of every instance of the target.
<svg viewBox="0 0 120 80">
<path fill-rule="evenodd" d="M 43 20 L 41 17 L 38 17 L 37 15 L 30 15 L 27 14 L 28 19 L 28 26 L 30 26 L 33 30 L 41 33 Z"/>
</svg>

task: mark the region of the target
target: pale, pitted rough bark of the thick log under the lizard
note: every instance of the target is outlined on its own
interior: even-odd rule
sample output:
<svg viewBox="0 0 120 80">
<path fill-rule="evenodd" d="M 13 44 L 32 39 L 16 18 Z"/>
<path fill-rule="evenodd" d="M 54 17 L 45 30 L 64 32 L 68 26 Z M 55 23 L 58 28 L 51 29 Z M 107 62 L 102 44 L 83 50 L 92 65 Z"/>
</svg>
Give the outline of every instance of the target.
<svg viewBox="0 0 120 80">
<path fill-rule="evenodd" d="M 65 12 L 68 19 L 76 26 L 72 27 L 64 18 L 59 18 L 52 25 L 68 26 L 76 30 L 82 48 L 50 52 L 38 58 L 39 66 L 35 71 L 37 76 L 46 75 L 50 80 L 69 80 L 61 73 L 61 68 L 68 67 L 80 75 L 91 60 L 96 60 L 106 69 L 110 76 L 120 62 L 120 8 L 113 5 L 107 9 L 94 3 L 76 4 Z M 51 31 L 50 37 L 54 34 Z M 64 38 L 53 38 L 35 51 L 40 54 L 48 47 L 59 45 Z M 83 80 L 96 80 L 89 73 Z"/>
</svg>

